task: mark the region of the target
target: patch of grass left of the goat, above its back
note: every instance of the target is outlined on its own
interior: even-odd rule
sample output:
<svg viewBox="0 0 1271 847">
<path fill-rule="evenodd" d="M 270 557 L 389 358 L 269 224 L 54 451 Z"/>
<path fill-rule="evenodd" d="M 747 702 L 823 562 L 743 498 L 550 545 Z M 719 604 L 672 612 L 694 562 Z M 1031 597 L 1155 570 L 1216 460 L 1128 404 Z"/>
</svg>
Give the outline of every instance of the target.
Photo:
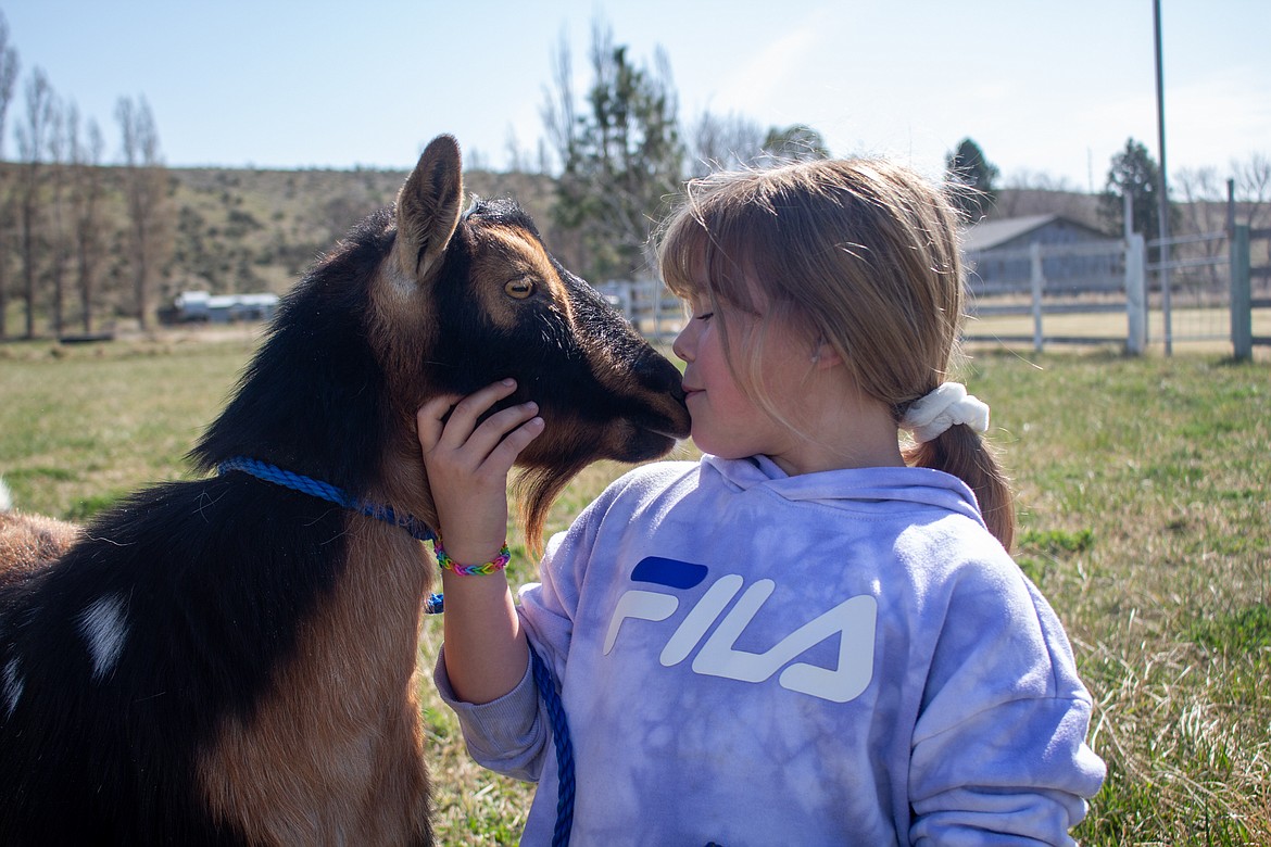
<svg viewBox="0 0 1271 847">
<path fill-rule="evenodd" d="M 252 335 L 85 347 L 0 347 L 0 475 L 24 509 L 83 519 L 184 455 L 221 408 Z"/>
</svg>

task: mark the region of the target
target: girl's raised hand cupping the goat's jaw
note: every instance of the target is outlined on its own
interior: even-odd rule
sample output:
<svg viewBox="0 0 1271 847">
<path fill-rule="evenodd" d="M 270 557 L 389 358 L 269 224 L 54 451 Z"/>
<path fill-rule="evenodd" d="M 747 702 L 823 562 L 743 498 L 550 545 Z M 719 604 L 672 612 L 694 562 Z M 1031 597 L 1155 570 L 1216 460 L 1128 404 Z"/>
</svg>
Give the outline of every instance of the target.
<svg viewBox="0 0 1271 847">
<path fill-rule="evenodd" d="M 512 394 L 503 380 L 466 397 L 442 395 L 416 415 L 419 447 L 446 552 L 465 565 L 489 561 L 507 537 L 507 475 L 539 433 L 538 405 L 522 403 L 477 420 Z M 452 408 L 452 410 L 451 410 Z M 446 413 L 449 420 L 442 420 Z"/>
</svg>

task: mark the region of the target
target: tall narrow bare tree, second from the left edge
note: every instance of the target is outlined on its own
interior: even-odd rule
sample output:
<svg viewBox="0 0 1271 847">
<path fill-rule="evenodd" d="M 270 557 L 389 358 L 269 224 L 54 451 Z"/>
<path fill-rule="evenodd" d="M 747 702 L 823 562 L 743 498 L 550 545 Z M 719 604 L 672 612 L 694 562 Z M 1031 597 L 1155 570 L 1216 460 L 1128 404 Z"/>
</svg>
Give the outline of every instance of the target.
<svg viewBox="0 0 1271 847">
<path fill-rule="evenodd" d="M 48 135 L 53 124 L 53 89 L 48 76 L 39 67 L 34 69 L 27 83 L 25 122 L 18 127 L 18 155 L 22 157 L 22 179 L 19 185 L 19 225 L 22 227 L 22 278 L 23 298 L 27 309 L 25 338 L 36 337 L 36 283 L 38 279 L 37 255 L 38 240 L 42 236 L 39 217 L 43 211 L 39 193 L 44 182 L 44 151 L 48 147 Z"/>
</svg>

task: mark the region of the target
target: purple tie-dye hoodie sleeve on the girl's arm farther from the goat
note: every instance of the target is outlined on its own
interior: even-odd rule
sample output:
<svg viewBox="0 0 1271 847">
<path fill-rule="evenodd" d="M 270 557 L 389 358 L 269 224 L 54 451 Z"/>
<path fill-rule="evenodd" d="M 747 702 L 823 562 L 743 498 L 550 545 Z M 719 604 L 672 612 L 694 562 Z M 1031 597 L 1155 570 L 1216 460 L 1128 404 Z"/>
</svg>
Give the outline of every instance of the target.
<svg viewBox="0 0 1271 847">
<path fill-rule="evenodd" d="M 1018 570 L 955 585 L 914 728 L 914 844 L 1073 844 L 1103 781 L 1091 696 L 1045 598 Z"/>
</svg>

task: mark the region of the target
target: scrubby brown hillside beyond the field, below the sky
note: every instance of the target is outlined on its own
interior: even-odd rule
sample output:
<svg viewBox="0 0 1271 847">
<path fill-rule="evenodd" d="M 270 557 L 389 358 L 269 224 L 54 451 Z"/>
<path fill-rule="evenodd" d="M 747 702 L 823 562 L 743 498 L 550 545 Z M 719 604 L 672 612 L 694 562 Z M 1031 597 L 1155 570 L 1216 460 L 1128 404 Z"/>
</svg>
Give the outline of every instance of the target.
<svg viewBox="0 0 1271 847">
<path fill-rule="evenodd" d="M 0 245 L 0 287 L 8 292 L 5 333 L 20 337 L 25 310 L 24 267 L 20 251 L 20 217 L 17 212 L 23 165 L 0 163 L 0 190 L 13 201 L 13 229 Z M 70 239 L 70 201 L 65 192 L 60 212 L 55 197 L 56 171 L 43 166 L 44 188 L 39 229 L 36 234 L 37 316 L 36 334 L 50 333 L 56 290 L 61 276 L 65 326 L 81 321 L 76 295 L 74 259 L 66 254 L 58 272 L 48 249 L 53 221 L 64 221 L 64 243 Z M 121 317 L 132 305 L 127 262 L 127 218 L 119 168 L 100 168 L 104 187 L 100 217 L 103 257 L 93 301 L 93 328 L 125 330 L 135 324 Z M 405 170 L 255 170 L 197 168 L 168 169 L 168 216 L 165 237 L 170 259 L 163 265 L 151 293 L 154 307 L 172 303 L 182 291 L 211 293 L 283 293 L 323 253 L 329 250 L 357 221 L 393 202 L 405 182 Z M 552 222 L 554 183 L 550 177 L 526 173 L 472 170 L 465 174 L 469 194 L 511 197 L 536 222 L 544 241 L 571 268 L 578 262 L 578 240 Z M 990 217 L 1056 212 L 1098 226 L 1097 197 L 1037 189 L 1005 189 Z M 8 249 L 4 249 L 8 248 Z M 600 281 L 594 281 L 600 282 Z M 4 300 L 4 297 L 0 297 Z"/>
</svg>

